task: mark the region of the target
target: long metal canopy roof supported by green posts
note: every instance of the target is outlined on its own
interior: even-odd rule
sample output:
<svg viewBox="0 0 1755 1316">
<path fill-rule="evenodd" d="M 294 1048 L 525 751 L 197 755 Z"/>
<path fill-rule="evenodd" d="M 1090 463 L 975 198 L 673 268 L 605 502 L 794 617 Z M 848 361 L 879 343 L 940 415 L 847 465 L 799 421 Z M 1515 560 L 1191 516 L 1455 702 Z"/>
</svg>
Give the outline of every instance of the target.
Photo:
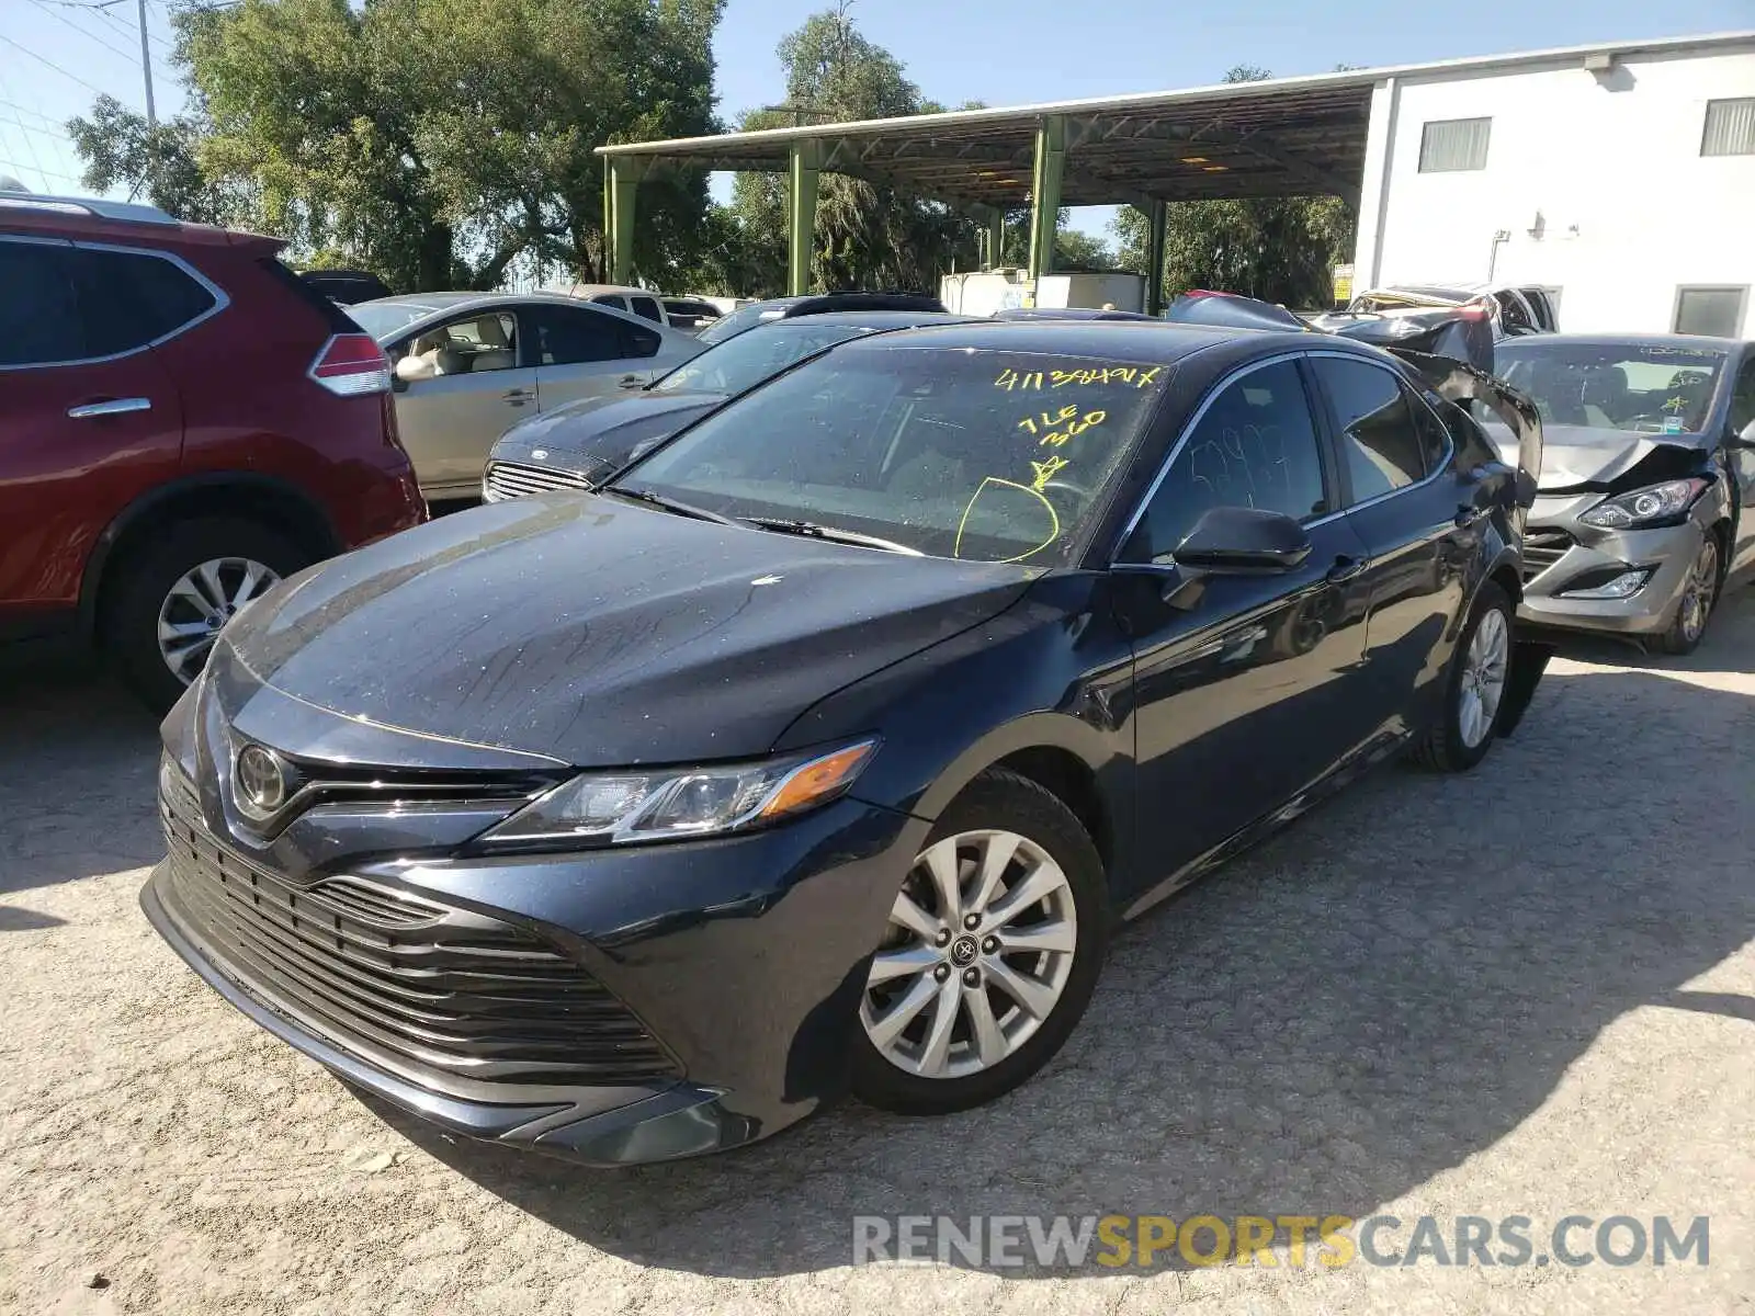
<svg viewBox="0 0 1755 1316">
<path fill-rule="evenodd" d="M 823 167 L 958 205 L 1028 198 L 1035 126 L 1067 118 L 1064 205 L 1285 197 L 1355 197 L 1365 165 L 1371 91 L 1390 77 L 1436 79 L 1578 61 L 1755 49 L 1755 32 L 1601 42 L 1441 63 L 1358 68 L 1181 91 L 949 111 L 899 119 L 627 142 L 598 154 L 716 170 L 783 170 L 793 142 L 821 140 Z"/>
</svg>

